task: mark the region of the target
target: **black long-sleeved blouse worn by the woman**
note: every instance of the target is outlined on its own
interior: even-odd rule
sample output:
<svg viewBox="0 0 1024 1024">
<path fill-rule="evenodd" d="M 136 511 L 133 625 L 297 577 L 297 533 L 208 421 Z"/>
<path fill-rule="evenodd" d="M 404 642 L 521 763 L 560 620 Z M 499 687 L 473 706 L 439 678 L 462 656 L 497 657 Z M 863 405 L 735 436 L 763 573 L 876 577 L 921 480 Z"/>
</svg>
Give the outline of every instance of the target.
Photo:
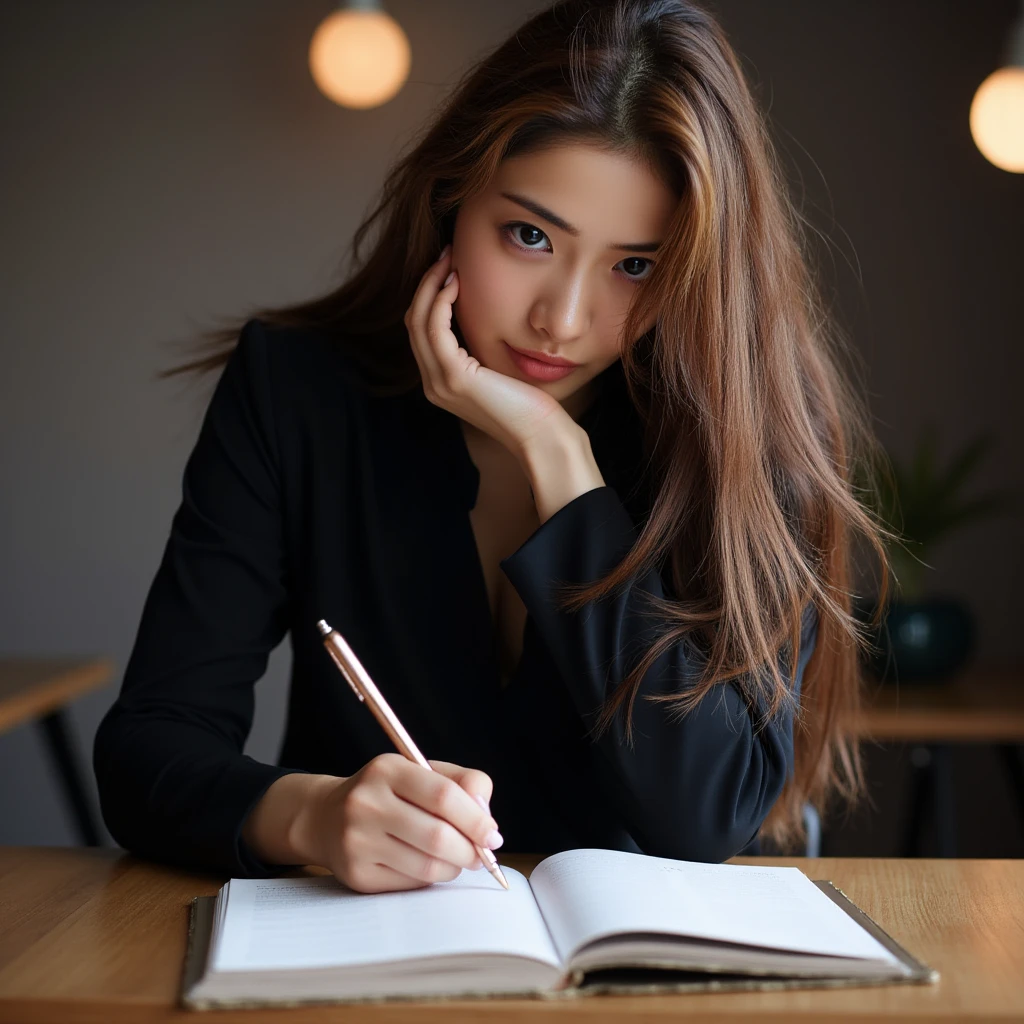
<svg viewBox="0 0 1024 1024">
<path fill-rule="evenodd" d="M 425 757 L 490 775 L 504 851 L 755 852 L 793 770 L 792 714 L 755 733 L 740 691 L 722 684 L 670 722 L 642 696 L 691 684 L 695 652 L 680 643 L 643 680 L 632 749 L 621 723 L 597 741 L 586 734 L 653 635 L 643 592 L 671 596 L 652 571 L 575 614 L 554 602 L 555 581 L 592 582 L 615 566 L 645 514 L 639 423 L 618 365 L 600 382 L 580 422 L 607 485 L 501 563 L 527 611 L 522 657 L 502 688 L 469 519 L 479 475 L 459 420 L 420 388 L 371 395 L 330 338 L 250 321 L 186 464 L 121 692 L 96 734 L 118 843 L 232 876 L 273 873 L 241 835 L 266 788 L 294 771 L 352 775 L 393 751 L 324 649 L 326 618 Z M 798 695 L 816 625 L 808 605 Z M 242 751 L 255 683 L 286 633 L 279 767 Z"/>
</svg>

